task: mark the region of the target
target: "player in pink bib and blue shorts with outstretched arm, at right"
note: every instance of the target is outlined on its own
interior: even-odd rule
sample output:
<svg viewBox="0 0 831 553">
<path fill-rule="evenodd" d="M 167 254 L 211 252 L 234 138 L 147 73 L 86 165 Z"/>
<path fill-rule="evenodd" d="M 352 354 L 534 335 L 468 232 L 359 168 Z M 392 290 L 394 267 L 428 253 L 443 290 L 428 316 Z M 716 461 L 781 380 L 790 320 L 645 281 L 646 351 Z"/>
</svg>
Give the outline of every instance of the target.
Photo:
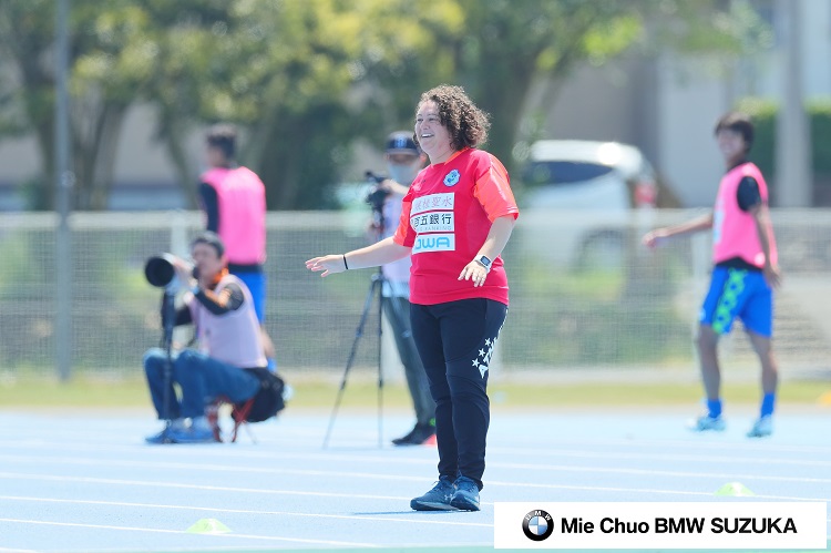
<svg viewBox="0 0 831 553">
<path fill-rule="evenodd" d="M 721 370 L 718 339 L 741 319 L 761 365 L 762 399 L 759 418 L 749 438 L 773 431 L 779 370 L 773 357 L 773 293 L 780 284 L 777 245 L 768 209 L 768 186 L 759 167 L 747 161 L 753 143 L 753 124 L 741 113 L 727 113 L 716 124 L 716 140 L 727 172 L 721 177 L 712 213 L 687 223 L 657 228 L 644 236 L 655 247 L 674 236 L 712 229 L 712 277 L 704 300 L 696 340 L 707 413 L 691 430 L 721 431 Z"/>
</svg>

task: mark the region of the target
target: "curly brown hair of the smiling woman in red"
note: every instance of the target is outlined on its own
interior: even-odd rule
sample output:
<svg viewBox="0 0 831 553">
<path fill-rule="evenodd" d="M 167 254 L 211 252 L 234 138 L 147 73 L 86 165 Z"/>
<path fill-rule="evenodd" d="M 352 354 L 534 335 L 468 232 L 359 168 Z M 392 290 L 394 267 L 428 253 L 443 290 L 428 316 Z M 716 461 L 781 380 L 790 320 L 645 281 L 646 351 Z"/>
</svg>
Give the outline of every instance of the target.
<svg viewBox="0 0 831 553">
<path fill-rule="evenodd" d="M 464 89 L 450 84 L 440 84 L 421 94 L 416 107 L 424 102 L 435 102 L 439 109 L 439 121 L 448 129 L 450 145 L 454 151 L 463 147 L 476 147 L 488 141 L 491 127 L 488 113 L 483 112 L 468 98 Z M 419 137 L 413 134 L 416 144 Z"/>
</svg>

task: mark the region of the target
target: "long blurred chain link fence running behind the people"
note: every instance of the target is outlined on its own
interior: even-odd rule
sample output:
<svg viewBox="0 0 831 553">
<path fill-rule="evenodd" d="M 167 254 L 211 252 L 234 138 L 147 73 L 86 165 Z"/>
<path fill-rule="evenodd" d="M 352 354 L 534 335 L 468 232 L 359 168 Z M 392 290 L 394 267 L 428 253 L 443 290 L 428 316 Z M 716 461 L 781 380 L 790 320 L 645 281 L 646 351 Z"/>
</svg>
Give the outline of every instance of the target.
<svg viewBox="0 0 831 553">
<path fill-rule="evenodd" d="M 709 236 L 655 252 L 640 236 L 691 211 L 632 214 L 525 211 L 503 254 L 511 309 L 497 369 L 591 373 L 648 370 L 696 376 L 693 336 L 708 284 Z M 831 375 L 831 212 L 772 214 L 784 284 L 774 348 L 783 371 Z M 368 214 L 269 213 L 266 326 L 281 370 L 339 375 L 356 339 L 373 270 L 321 279 L 304 262 L 366 245 Z M 0 218 L 0 377 L 55 373 L 57 299 L 71 294 L 72 373 L 135 376 L 162 338 L 162 293 L 144 278 L 153 255 L 187 254 L 202 227 L 193 212 L 76 213 L 72 274 L 55 274 L 58 218 Z M 356 368 L 377 366 L 378 309 L 360 339 Z M 740 325 L 721 345 L 725 363 L 756 368 Z M 389 356 L 387 357 L 389 358 Z M 558 371 L 558 372 L 557 372 Z"/>
</svg>

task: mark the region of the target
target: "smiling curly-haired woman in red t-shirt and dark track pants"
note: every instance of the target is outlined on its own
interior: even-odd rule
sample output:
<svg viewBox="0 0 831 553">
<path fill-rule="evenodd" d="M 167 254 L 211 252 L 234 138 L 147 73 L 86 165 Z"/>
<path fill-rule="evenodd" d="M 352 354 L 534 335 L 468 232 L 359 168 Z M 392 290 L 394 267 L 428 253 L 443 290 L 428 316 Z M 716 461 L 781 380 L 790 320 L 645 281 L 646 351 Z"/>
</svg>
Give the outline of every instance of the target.
<svg viewBox="0 0 831 553">
<path fill-rule="evenodd" d="M 326 277 L 410 256 L 410 322 L 435 401 L 439 481 L 410 501 L 417 511 L 479 511 L 490 423 L 489 366 L 507 314 L 500 257 L 519 208 L 505 167 L 476 146 L 488 115 L 460 86 L 424 92 L 413 141 L 430 164 L 410 185 L 396 233 L 376 244 L 306 262 Z"/>
</svg>

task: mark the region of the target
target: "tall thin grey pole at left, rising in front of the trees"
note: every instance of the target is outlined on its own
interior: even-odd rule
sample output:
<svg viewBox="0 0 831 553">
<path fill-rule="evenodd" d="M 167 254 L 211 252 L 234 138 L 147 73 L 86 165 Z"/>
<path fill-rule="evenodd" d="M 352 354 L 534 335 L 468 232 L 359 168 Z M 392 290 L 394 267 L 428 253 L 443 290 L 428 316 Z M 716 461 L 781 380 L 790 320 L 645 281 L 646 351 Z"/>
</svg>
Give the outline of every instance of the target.
<svg viewBox="0 0 831 553">
<path fill-rule="evenodd" d="M 72 365 L 72 252 L 69 227 L 70 193 L 74 174 L 70 168 L 69 136 L 69 0 L 58 0 L 55 17 L 55 117 L 54 178 L 60 223 L 55 232 L 55 366 L 62 381 Z"/>
</svg>

